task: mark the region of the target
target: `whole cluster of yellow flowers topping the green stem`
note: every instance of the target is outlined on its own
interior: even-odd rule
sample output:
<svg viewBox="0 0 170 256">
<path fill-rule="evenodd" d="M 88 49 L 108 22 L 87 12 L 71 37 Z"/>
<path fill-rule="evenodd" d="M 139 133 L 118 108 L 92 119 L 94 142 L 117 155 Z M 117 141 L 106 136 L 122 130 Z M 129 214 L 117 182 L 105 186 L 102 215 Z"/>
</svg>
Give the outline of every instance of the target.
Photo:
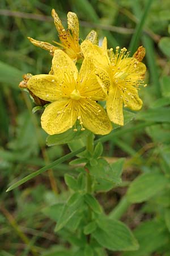
<svg viewBox="0 0 170 256">
<path fill-rule="evenodd" d="M 79 22 L 75 13 L 67 14 L 65 30 L 56 11 L 52 10 L 54 24 L 61 43 L 53 46 L 28 38 L 53 56 L 48 75 L 29 76 L 20 83 L 34 98 L 45 105 L 41 126 L 46 133 L 60 134 L 68 129 L 88 129 L 95 134 L 108 134 L 112 122 L 124 125 L 123 107 L 139 110 L 142 100 L 138 96 L 146 67 L 141 63 L 145 48 L 139 47 L 133 57 L 126 48 L 107 48 L 107 38 L 98 45 L 97 34 L 92 30 L 79 44 Z M 81 63 L 80 70 L 76 67 Z M 103 101 L 103 104 L 102 104 Z M 105 107 L 103 107 L 105 106 Z"/>
</svg>

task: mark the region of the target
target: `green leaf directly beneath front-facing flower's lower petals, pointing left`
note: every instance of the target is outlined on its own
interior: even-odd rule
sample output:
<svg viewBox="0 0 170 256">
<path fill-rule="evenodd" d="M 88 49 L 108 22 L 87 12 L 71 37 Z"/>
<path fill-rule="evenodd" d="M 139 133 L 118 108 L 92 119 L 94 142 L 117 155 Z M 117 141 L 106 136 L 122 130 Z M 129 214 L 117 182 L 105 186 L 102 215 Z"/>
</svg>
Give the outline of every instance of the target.
<svg viewBox="0 0 170 256">
<path fill-rule="evenodd" d="M 88 131 L 88 130 L 73 131 L 73 129 L 69 129 L 69 130 L 65 131 L 65 133 L 62 133 L 62 134 L 49 135 L 46 138 L 46 144 L 48 146 L 66 144 L 66 143 L 69 143 L 69 142 L 76 141 L 77 139 L 87 137 L 90 133 L 91 132 Z"/>
</svg>

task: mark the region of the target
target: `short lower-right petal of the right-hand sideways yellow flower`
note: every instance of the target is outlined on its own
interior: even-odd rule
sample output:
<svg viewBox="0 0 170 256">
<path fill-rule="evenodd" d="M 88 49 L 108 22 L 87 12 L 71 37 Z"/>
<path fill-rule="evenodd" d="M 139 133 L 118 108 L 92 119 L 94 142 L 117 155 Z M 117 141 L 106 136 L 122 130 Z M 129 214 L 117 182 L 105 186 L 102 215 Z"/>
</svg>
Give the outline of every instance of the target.
<svg viewBox="0 0 170 256">
<path fill-rule="evenodd" d="M 125 104 L 131 110 L 139 110 L 142 108 L 142 100 L 138 96 L 137 89 L 127 89 L 124 92 Z"/>
</svg>

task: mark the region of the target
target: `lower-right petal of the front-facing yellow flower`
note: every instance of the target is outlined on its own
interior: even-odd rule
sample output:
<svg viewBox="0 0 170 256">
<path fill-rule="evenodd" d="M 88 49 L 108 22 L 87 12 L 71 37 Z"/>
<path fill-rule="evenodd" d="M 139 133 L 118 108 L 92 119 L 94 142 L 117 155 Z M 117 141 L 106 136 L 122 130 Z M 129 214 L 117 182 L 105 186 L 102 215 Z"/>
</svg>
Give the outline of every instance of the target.
<svg viewBox="0 0 170 256">
<path fill-rule="evenodd" d="M 82 115 L 83 126 L 92 133 L 105 135 L 112 131 L 112 124 L 105 110 L 96 102 L 90 102 L 91 106 L 86 105 L 90 111 Z M 96 111 L 98 108 L 98 112 Z M 99 111 L 100 110 L 100 111 Z"/>
</svg>

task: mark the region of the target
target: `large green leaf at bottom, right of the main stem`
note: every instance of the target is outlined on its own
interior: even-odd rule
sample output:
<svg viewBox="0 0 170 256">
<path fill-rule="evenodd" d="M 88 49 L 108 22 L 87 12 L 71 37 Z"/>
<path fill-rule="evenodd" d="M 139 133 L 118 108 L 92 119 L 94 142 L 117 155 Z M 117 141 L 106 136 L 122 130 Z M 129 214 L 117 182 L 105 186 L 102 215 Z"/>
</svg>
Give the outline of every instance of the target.
<svg viewBox="0 0 170 256">
<path fill-rule="evenodd" d="M 128 226 L 123 222 L 100 218 L 92 237 L 103 247 L 112 251 L 137 250 L 138 243 Z"/>
</svg>

